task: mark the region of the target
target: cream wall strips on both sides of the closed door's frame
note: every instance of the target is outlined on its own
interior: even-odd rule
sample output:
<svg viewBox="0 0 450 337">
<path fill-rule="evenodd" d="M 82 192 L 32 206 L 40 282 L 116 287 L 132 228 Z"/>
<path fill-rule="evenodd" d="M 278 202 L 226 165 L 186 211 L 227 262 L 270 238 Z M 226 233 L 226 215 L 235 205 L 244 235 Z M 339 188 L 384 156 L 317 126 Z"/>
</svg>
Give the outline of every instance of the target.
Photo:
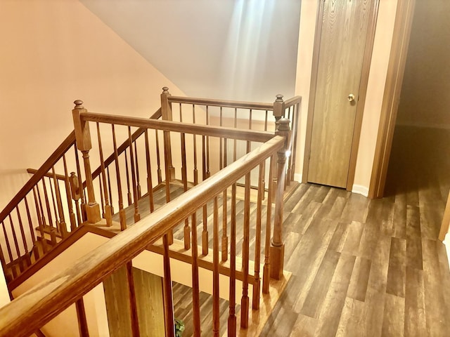
<svg viewBox="0 0 450 337">
<path fill-rule="evenodd" d="M 295 94 L 302 95 L 302 118 L 300 120 L 300 135 L 297 147 L 300 155 L 297 157 L 297 178 L 303 168 L 304 142 L 306 135 L 307 111 L 311 82 L 312 53 L 314 47 L 314 31 L 316 25 L 316 0 L 302 1 L 302 14 L 300 17 L 300 34 L 297 57 L 297 81 Z M 368 89 L 364 117 L 361 126 L 361 139 L 359 141 L 358 158 L 353 192 L 367 195 L 371 180 L 375 143 L 380 121 L 380 111 L 383 102 L 383 92 L 387 75 L 387 64 L 392 44 L 397 0 L 380 0 L 378 10 L 378 25 L 375 32 L 371 69 L 368 78 Z"/>
</svg>

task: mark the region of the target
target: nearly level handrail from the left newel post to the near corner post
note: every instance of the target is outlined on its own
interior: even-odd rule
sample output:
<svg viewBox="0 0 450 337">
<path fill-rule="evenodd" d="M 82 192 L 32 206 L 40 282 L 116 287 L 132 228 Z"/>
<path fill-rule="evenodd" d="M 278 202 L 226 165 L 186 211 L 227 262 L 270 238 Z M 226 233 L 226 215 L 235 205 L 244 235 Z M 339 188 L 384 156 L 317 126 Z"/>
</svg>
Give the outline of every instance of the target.
<svg viewBox="0 0 450 337">
<path fill-rule="evenodd" d="M 153 128 L 162 131 L 176 131 L 179 133 L 190 133 L 194 135 L 248 140 L 250 142 L 264 143 L 274 137 L 274 133 L 266 131 L 225 128 L 223 126 L 205 126 L 184 122 L 180 123 L 179 121 L 160 121 L 157 119 L 146 119 L 139 117 L 122 117 L 113 114 L 98 114 L 95 112 L 84 112 L 80 114 L 80 117 L 84 121 L 98 121 L 99 123 L 136 126 L 139 128 Z"/>
</svg>

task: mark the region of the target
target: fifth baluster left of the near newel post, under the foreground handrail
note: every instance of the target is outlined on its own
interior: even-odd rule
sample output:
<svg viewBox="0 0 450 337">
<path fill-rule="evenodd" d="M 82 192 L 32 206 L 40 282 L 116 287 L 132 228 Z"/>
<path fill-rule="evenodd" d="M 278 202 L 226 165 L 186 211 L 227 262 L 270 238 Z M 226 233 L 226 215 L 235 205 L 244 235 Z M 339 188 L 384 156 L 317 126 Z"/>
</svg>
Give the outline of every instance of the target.
<svg viewBox="0 0 450 337">
<path fill-rule="evenodd" d="M 214 197 L 214 230 L 213 230 L 213 270 L 212 270 L 212 321 L 214 337 L 219 336 L 220 312 L 219 312 L 219 203 L 217 197 Z"/>
</svg>

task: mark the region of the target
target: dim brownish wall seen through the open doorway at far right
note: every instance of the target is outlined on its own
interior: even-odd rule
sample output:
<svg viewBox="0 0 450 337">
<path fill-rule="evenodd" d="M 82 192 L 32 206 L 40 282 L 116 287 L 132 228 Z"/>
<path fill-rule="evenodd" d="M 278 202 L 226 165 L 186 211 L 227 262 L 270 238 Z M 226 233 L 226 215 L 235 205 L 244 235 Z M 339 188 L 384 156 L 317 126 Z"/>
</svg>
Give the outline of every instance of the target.
<svg viewBox="0 0 450 337">
<path fill-rule="evenodd" d="M 398 124 L 450 128 L 450 1 L 418 0 Z"/>
</svg>

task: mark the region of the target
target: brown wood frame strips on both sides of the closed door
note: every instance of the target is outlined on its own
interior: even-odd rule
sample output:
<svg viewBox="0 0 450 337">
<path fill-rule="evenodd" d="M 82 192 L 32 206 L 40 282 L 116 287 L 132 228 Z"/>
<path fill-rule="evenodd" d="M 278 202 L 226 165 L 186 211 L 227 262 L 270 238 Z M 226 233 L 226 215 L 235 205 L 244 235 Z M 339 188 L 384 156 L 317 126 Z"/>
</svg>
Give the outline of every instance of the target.
<svg viewBox="0 0 450 337">
<path fill-rule="evenodd" d="M 308 171 L 309 171 L 309 157 L 311 154 L 311 134 L 312 124 L 314 120 L 314 102 L 316 100 L 316 86 L 317 86 L 317 73 L 319 70 L 319 56 L 322 34 L 322 15 L 323 15 L 324 1 L 320 1 L 319 8 L 316 13 L 316 33 L 314 35 L 314 51 L 312 57 L 311 68 L 311 85 L 309 93 L 309 105 L 307 115 L 307 132 L 304 145 L 304 160 L 303 160 L 303 173 L 302 183 L 307 183 Z M 368 74 L 371 67 L 373 41 L 375 39 L 375 27 L 378 18 L 378 8 L 380 0 L 373 0 L 373 4 L 370 9 L 369 22 L 366 37 L 366 48 L 364 48 L 364 57 L 361 70 L 361 81 L 359 84 L 359 100 L 356 106 L 356 115 L 353 130 L 352 150 L 350 152 L 349 172 L 347 176 L 346 190 L 351 191 L 354 182 L 354 173 L 356 169 L 356 157 L 358 155 L 359 137 L 361 135 L 361 124 L 363 120 L 364 103 L 366 102 Z"/>
</svg>

